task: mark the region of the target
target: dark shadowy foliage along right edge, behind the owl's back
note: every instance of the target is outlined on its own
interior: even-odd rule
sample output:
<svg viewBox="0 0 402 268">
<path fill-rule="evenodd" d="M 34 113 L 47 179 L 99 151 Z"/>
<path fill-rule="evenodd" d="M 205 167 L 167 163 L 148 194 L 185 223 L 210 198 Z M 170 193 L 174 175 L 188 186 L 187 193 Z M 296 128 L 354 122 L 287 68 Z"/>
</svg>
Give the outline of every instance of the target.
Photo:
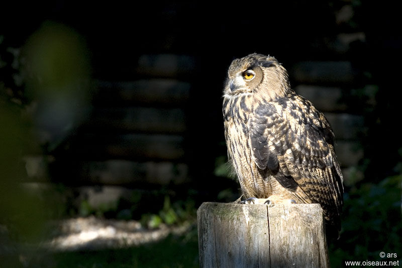
<svg viewBox="0 0 402 268">
<path fill-rule="evenodd" d="M 347 260 L 401 260 L 402 244 L 402 140 L 397 131 L 402 94 L 394 90 L 398 77 L 392 62 L 400 58 L 400 36 L 393 30 L 392 20 L 373 27 L 372 14 L 386 14 L 389 5 L 352 1 L 353 27 L 366 35 L 366 42 L 351 47 L 353 64 L 362 71 L 360 87 L 345 92 L 343 101 L 352 112 L 364 116 L 364 128 L 358 140 L 364 156 L 355 166 L 363 179 L 353 178 L 345 188 L 342 231 L 339 240 L 329 241 L 333 267 Z M 384 13 L 385 12 L 385 13 Z M 382 29 L 388 29 L 384 32 Z M 369 55 L 381 53 L 381 66 L 371 64 Z M 397 258 L 381 258 L 380 252 L 396 253 Z"/>
</svg>

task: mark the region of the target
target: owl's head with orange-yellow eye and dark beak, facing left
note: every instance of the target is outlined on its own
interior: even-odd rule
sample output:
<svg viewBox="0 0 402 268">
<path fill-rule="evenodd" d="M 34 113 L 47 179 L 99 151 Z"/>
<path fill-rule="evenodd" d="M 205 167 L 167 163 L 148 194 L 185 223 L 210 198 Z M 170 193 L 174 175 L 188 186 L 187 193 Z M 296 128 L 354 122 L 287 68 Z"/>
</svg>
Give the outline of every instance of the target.
<svg viewBox="0 0 402 268">
<path fill-rule="evenodd" d="M 230 64 L 224 95 L 258 93 L 273 99 L 289 91 L 287 71 L 274 57 L 250 54 Z"/>
</svg>

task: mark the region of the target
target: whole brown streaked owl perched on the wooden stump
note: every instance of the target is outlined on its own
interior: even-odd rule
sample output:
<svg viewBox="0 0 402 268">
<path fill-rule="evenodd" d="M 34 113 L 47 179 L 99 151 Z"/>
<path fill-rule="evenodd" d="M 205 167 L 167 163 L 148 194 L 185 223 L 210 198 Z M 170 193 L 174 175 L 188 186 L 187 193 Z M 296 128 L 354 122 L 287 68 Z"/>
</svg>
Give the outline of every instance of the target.
<svg viewBox="0 0 402 268">
<path fill-rule="evenodd" d="M 340 229 L 343 176 L 334 132 L 325 116 L 292 90 L 274 57 L 233 60 L 223 116 L 228 156 L 247 201 L 318 203 L 324 218 Z"/>
</svg>

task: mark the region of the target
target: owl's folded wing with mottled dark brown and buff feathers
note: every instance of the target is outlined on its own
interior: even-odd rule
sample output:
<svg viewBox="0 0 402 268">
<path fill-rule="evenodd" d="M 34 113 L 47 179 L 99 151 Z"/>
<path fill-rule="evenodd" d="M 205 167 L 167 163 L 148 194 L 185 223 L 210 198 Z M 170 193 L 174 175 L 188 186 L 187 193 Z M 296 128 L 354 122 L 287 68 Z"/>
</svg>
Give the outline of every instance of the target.
<svg viewBox="0 0 402 268">
<path fill-rule="evenodd" d="M 294 94 L 261 103 L 250 116 L 249 129 L 258 168 L 270 169 L 289 191 L 298 186 L 312 203 L 322 205 L 327 219 L 340 215 L 343 177 L 334 133 L 311 102 Z"/>
</svg>

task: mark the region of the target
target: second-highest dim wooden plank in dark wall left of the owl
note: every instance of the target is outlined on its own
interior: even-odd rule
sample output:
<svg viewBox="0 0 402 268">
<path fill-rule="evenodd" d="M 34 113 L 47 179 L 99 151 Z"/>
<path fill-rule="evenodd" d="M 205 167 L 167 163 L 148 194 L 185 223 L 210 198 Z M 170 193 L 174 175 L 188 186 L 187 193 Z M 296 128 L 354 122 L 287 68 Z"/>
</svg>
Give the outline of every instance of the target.
<svg viewBox="0 0 402 268">
<path fill-rule="evenodd" d="M 191 84 L 175 79 L 152 78 L 136 81 L 95 81 L 95 105 L 152 104 L 182 107 L 189 100 Z"/>
</svg>

